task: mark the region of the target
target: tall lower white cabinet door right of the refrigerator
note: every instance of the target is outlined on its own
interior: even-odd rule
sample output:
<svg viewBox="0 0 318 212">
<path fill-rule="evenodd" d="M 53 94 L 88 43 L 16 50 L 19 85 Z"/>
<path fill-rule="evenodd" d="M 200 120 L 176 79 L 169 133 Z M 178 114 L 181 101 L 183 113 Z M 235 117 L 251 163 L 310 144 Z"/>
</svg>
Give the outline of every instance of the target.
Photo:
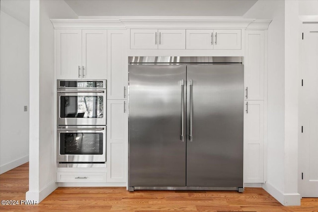
<svg viewBox="0 0 318 212">
<path fill-rule="evenodd" d="M 263 183 L 264 102 L 245 101 L 244 108 L 244 183 Z"/>
</svg>

